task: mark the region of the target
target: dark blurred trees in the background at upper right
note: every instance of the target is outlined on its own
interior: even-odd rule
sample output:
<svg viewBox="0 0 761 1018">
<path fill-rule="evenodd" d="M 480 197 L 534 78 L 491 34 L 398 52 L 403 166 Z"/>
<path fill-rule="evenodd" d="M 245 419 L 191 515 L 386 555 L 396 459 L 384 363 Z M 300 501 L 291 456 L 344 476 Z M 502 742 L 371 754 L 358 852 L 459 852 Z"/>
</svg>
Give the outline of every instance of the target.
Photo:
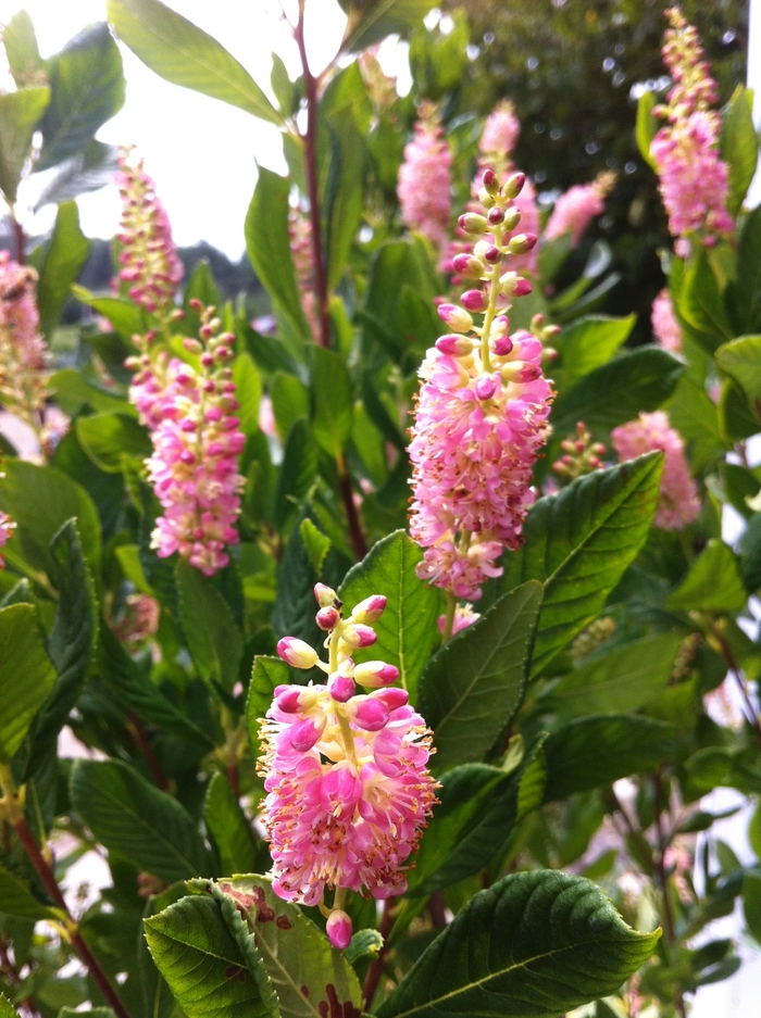
<svg viewBox="0 0 761 1018">
<path fill-rule="evenodd" d="M 411 51 L 421 93 L 444 102 L 456 133 L 471 111 L 483 115 L 503 97 L 513 101 L 523 125 L 515 161 L 539 191 L 566 190 L 603 169 L 615 171 L 607 215 L 588 231 L 565 272 L 574 278 L 594 241 L 608 240 L 623 279 L 606 310 L 636 310 L 640 341 L 649 339 L 649 306 L 663 285 L 653 251 L 671 247 L 671 239 L 658 181 L 637 150 L 636 106 L 646 88 L 659 97 L 668 91 L 660 50 L 663 11 L 671 5 L 666 0 L 444 0 L 451 21 L 419 32 Z M 746 78 L 748 0 L 681 5 L 700 32 L 723 104 Z M 440 66 L 442 59 L 448 67 Z"/>
</svg>

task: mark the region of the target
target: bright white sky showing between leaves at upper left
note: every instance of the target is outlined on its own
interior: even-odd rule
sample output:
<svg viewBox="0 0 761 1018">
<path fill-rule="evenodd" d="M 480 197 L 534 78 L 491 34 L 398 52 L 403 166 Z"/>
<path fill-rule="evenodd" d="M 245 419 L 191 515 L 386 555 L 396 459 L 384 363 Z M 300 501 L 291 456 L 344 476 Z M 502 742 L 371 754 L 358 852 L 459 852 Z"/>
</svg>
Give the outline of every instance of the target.
<svg viewBox="0 0 761 1018">
<path fill-rule="evenodd" d="M 278 0 L 172 0 L 171 5 L 219 39 L 269 93 L 273 50 L 294 77 L 300 73 Z M 291 5 L 287 0 L 286 7 Z M 22 7 L 32 16 L 42 56 L 60 50 L 86 25 L 105 18 L 105 0 L 0 0 L 0 23 Z M 310 65 L 319 71 L 336 52 L 346 17 L 336 0 L 310 0 L 307 15 Z M 146 169 L 157 183 L 178 244 L 204 239 L 239 257 L 245 249 L 244 217 L 255 183 L 254 160 L 285 173 L 277 128 L 170 85 L 125 46 L 121 49 L 126 102 L 97 137 L 114 144 L 132 142 L 146 156 Z M 79 210 L 88 236 L 113 236 L 118 222 L 114 188 L 84 196 Z M 20 213 L 24 216 L 23 210 Z M 46 216 L 49 219 L 52 210 L 35 221 L 24 216 L 25 225 L 37 232 L 48 225 Z"/>
</svg>

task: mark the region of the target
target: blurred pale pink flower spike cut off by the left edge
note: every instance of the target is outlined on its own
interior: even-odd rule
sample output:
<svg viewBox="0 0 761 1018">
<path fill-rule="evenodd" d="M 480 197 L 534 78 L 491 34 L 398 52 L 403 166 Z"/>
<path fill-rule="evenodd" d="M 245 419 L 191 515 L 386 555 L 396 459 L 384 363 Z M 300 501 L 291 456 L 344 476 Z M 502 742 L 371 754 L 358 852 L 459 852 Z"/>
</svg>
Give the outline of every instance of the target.
<svg viewBox="0 0 761 1018">
<path fill-rule="evenodd" d="M 36 286 L 34 268 L 0 251 L 0 399 L 40 433 L 50 390 Z"/>
</svg>

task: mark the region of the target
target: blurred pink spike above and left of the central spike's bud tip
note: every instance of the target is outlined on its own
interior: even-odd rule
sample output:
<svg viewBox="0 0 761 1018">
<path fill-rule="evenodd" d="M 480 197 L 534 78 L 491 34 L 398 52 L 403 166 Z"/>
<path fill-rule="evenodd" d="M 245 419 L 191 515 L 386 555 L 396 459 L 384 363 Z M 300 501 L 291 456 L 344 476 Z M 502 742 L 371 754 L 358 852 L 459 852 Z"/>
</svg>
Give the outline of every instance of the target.
<svg viewBox="0 0 761 1018">
<path fill-rule="evenodd" d="M 415 136 L 404 146 L 397 194 L 408 229 L 416 229 L 437 248 L 447 242 L 452 214 L 452 153 L 438 123 L 435 108 L 421 108 Z"/>
</svg>

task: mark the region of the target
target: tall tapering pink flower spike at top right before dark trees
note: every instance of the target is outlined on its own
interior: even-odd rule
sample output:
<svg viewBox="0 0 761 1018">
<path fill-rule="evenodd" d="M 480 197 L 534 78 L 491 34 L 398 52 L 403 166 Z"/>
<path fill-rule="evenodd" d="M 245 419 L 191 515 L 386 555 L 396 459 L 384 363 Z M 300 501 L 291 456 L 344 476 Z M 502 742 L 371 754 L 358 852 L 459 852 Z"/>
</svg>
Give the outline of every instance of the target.
<svg viewBox="0 0 761 1018">
<path fill-rule="evenodd" d="M 665 123 L 652 139 L 650 153 L 660 178 L 669 229 L 682 238 L 677 253 L 686 254 L 686 235 L 697 230 L 704 243 L 734 228 L 726 211 L 729 169 L 719 154 L 721 117 L 712 109 L 716 83 L 703 61 L 698 33 L 678 8 L 665 12 L 663 60 L 673 79 L 666 104 L 654 113 Z"/>
</svg>

